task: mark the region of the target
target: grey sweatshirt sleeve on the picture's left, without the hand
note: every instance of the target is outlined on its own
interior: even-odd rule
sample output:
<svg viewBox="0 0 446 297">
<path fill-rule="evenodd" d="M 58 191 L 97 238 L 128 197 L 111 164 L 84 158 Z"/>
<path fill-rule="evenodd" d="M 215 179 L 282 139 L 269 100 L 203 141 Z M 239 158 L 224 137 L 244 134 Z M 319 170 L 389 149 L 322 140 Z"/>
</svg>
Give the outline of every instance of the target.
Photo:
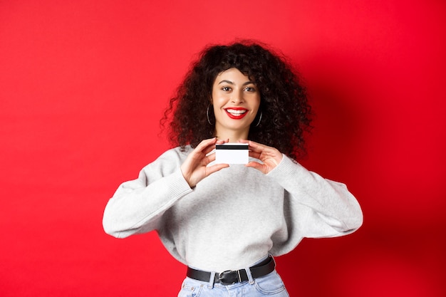
<svg viewBox="0 0 446 297">
<path fill-rule="evenodd" d="M 120 184 L 105 207 L 105 233 L 124 238 L 157 229 L 162 214 L 192 192 L 180 165 L 178 153 L 170 150 L 144 167 L 138 179 Z"/>
</svg>

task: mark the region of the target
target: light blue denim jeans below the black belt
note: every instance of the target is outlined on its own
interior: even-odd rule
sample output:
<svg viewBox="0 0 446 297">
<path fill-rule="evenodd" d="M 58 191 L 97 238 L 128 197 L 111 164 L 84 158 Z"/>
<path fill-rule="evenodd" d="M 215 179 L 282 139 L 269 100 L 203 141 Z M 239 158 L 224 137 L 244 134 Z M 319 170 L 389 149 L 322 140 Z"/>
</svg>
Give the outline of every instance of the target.
<svg viewBox="0 0 446 297">
<path fill-rule="evenodd" d="M 266 276 L 255 279 L 252 279 L 249 271 L 247 273 L 249 281 L 229 286 L 197 281 L 187 277 L 182 283 L 178 297 L 289 297 L 284 282 L 275 270 Z"/>
</svg>

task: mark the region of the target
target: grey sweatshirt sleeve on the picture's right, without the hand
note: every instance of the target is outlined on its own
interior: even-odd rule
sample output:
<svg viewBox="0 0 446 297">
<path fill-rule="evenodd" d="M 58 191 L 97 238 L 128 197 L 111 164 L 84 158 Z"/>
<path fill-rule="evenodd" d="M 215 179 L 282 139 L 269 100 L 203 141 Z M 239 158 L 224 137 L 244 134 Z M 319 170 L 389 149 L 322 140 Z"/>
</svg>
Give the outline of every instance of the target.
<svg viewBox="0 0 446 297">
<path fill-rule="evenodd" d="M 289 220 L 302 236 L 342 236 L 363 224 L 361 207 L 345 184 L 324 179 L 286 155 L 268 175 L 289 193 Z"/>
</svg>

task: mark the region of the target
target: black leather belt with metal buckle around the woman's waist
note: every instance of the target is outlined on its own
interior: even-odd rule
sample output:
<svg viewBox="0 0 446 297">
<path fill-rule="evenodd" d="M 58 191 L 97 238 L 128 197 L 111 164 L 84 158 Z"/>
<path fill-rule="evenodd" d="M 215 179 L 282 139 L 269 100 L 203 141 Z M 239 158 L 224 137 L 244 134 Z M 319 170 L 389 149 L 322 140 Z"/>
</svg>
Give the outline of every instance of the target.
<svg viewBox="0 0 446 297">
<path fill-rule="evenodd" d="M 276 264 L 272 256 L 268 259 L 261 261 L 261 263 L 256 264 L 249 268 L 251 271 L 252 278 L 258 278 L 261 276 L 266 276 L 266 274 L 274 271 Z M 194 278 L 198 281 L 209 282 L 211 279 L 211 273 L 208 271 L 201 271 L 197 269 L 192 269 L 187 267 L 187 277 Z M 221 283 L 224 286 L 231 285 L 232 283 L 240 283 L 242 281 L 248 280 L 248 274 L 245 269 L 240 269 L 236 271 L 223 271 L 222 273 L 215 273 L 214 283 Z"/>
</svg>

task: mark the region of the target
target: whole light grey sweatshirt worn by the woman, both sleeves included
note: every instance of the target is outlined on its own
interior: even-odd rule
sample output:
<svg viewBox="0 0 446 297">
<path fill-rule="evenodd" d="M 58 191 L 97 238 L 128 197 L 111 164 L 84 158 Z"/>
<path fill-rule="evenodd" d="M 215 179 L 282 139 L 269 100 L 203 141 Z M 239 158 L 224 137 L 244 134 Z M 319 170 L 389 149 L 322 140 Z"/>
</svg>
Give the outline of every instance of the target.
<svg viewBox="0 0 446 297">
<path fill-rule="evenodd" d="M 105 207 L 105 232 L 123 238 L 156 230 L 178 261 L 220 272 L 286 254 L 304 237 L 349 234 L 363 222 L 345 184 L 286 155 L 269 174 L 231 165 L 191 189 L 180 171 L 191 151 L 168 150 L 121 184 Z"/>
</svg>

